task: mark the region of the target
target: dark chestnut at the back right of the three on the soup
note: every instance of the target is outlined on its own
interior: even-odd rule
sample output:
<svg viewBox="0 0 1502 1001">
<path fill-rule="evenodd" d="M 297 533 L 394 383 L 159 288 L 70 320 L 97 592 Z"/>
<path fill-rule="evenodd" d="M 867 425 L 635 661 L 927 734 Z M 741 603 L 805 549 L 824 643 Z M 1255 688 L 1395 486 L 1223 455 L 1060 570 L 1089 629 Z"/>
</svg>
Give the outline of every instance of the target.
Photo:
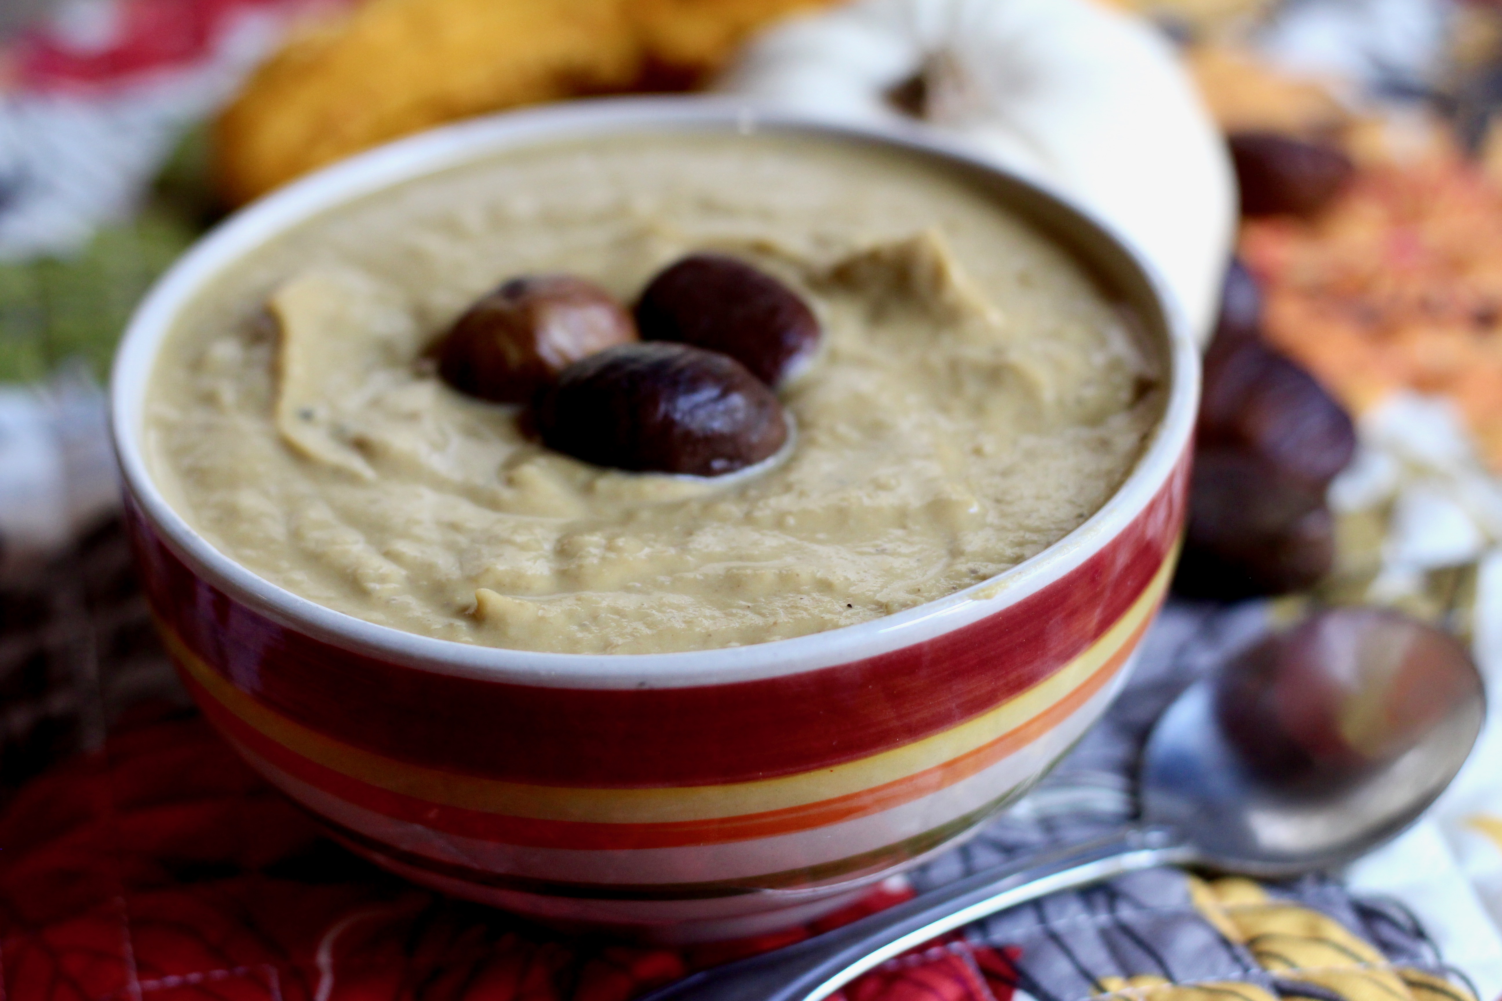
<svg viewBox="0 0 1502 1001">
<path fill-rule="evenodd" d="M 798 293 L 745 261 L 692 254 L 652 279 L 637 302 L 646 341 L 728 354 L 768 386 L 813 359 L 819 320 Z"/>
</svg>

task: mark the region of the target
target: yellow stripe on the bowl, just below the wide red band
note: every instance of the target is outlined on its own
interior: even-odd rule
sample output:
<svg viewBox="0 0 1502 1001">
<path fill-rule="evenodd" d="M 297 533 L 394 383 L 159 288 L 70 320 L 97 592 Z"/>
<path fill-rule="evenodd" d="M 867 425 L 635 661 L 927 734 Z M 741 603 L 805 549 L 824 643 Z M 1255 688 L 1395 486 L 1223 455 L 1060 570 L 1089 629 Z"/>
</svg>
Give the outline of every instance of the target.
<svg viewBox="0 0 1502 1001">
<path fill-rule="evenodd" d="M 392 761 L 330 740 L 266 708 L 194 656 L 170 630 L 183 666 L 227 710 L 267 738 L 341 774 L 430 803 L 536 819 L 661 824 L 743 816 L 807 806 L 895 782 L 940 765 L 1015 729 L 1093 675 L 1154 614 L 1173 572 L 1173 554 L 1099 641 L 1021 695 L 933 737 L 859 761 L 778 779 L 662 789 L 592 789 L 497 782 Z"/>
</svg>

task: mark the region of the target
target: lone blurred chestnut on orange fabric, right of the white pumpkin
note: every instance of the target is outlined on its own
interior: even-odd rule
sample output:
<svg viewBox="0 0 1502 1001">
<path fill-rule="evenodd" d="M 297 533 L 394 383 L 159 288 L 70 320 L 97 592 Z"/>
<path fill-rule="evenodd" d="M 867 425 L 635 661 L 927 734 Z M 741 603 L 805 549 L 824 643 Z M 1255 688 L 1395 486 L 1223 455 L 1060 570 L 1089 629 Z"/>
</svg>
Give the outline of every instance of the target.
<svg viewBox="0 0 1502 1001">
<path fill-rule="evenodd" d="M 1247 216 L 1311 216 L 1355 173 L 1350 158 L 1338 149 L 1275 132 L 1236 132 L 1230 137 L 1230 155 L 1241 186 L 1241 212 Z"/>
</svg>

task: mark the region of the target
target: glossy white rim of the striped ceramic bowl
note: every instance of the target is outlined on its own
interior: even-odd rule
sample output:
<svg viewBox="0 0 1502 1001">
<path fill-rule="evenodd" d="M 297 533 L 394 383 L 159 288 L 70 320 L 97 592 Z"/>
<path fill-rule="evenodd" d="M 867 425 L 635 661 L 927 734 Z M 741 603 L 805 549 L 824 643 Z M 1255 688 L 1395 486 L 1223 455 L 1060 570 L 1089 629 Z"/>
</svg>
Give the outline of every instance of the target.
<svg viewBox="0 0 1502 1001">
<path fill-rule="evenodd" d="M 1114 243 L 1152 288 L 1169 330 L 1169 401 L 1128 479 L 1083 525 L 1035 557 L 961 591 L 826 632 L 745 647 L 656 654 L 536 653 L 472 645 L 379 626 L 281 588 L 216 549 L 155 485 L 141 447 L 146 387 L 179 311 L 224 267 L 306 219 L 395 185 L 526 144 L 613 132 L 777 131 L 898 147 L 1032 189 L 1071 222 Z M 814 671 L 922 642 L 1017 603 L 1078 567 L 1158 495 L 1184 458 L 1199 405 L 1199 350 L 1182 311 L 1130 239 L 1060 192 L 1020 177 L 922 126 L 835 125 L 707 96 L 604 98 L 449 125 L 335 164 L 240 210 L 164 275 L 132 315 L 111 372 L 111 425 L 126 488 L 153 530 L 209 584 L 294 632 L 410 668 L 511 684 L 655 689 L 728 684 Z"/>
</svg>

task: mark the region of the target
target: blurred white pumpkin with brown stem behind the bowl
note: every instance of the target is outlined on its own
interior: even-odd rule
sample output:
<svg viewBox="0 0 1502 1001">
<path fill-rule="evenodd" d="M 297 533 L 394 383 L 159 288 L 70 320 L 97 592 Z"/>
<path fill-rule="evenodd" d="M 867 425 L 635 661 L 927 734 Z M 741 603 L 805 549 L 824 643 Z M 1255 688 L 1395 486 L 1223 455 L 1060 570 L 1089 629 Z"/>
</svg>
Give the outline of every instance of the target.
<svg viewBox="0 0 1502 1001">
<path fill-rule="evenodd" d="M 716 90 L 832 122 L 916 114 L 1093 210 L 1209 336 L 1235 179 L 1220 131 L 1151 24 L 1090 0 L 858 0 L 753 39 Z"/>
</svg>

